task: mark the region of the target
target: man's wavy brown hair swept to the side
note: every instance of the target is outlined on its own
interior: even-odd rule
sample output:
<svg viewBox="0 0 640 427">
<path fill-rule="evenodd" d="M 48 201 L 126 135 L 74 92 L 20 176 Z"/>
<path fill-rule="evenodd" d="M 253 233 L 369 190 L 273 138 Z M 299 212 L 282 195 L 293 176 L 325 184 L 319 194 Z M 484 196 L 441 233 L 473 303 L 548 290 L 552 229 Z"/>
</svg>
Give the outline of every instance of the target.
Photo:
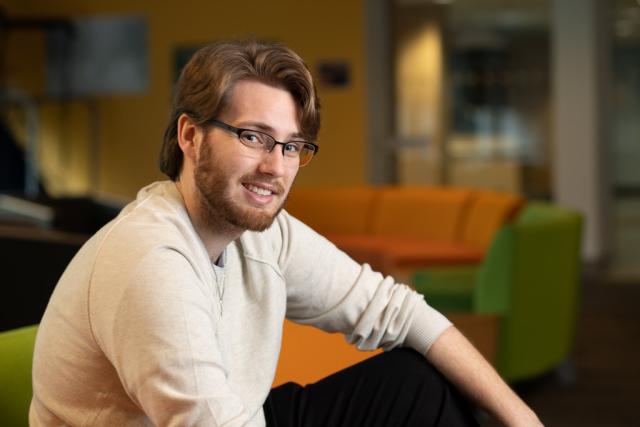
<svg viewBox="0 0 640 427">
<path fill-rule="evenodd" d="M 315 141 L 320 129 L 320 104 L 309 69 L 284 45 L 256 40 L 214 43 L 197 51 L 180 73 L 171 119 L 160 150 L 160 170 L 175 181 L 182 170 L 178 118 L 187 114 L 205 126 L 226 107 L 234 84 L 256 80 L 281 87 L 299 107 L 302 135 Z"/>
</svg>

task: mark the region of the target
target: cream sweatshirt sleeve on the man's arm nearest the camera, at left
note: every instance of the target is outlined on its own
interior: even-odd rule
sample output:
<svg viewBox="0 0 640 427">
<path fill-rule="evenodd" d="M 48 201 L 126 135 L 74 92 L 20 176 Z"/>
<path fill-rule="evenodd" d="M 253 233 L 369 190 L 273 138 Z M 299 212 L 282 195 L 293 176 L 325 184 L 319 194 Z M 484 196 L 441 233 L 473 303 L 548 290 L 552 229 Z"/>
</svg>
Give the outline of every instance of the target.
<svg viewBox="0 0 640 427">
<path fill-rule="evenodd" d="M 91 310 L 96 340 L 126 393 L 154 425 L 251 425 L 227 381 L 217 309 L 202 278 L 170 248 L 131 264 L 122 266 L 124 283 L 93 299 Z"/>
</svg>

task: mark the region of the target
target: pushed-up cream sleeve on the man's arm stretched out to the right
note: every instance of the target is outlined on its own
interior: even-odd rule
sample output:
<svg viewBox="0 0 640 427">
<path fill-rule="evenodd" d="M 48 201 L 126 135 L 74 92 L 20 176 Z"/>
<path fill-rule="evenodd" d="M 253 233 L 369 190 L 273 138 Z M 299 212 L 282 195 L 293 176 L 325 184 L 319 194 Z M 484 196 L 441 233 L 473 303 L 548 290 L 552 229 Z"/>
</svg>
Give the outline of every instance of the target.
<svg viewBox="0 0 640 427">
<path fill-rule="evenodd" d="M 278 221 L 289 319 L 342 332 L 362 350 L 407 346 L 421 354 L 451 325 L 422 295 L 356 263 L 302 222 L 286 213 Z"/>
</svg>

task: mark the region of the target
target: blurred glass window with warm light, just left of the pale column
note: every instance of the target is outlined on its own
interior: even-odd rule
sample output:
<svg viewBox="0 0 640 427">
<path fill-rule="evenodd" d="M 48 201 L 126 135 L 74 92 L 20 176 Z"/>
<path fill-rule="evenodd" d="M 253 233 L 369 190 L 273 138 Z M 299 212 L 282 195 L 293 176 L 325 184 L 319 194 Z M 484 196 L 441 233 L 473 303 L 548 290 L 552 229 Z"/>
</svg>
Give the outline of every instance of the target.
<svg viewBox="0 0 640 427">
<path fill-rule="evenodd" d="M 548 197 L 548 2 L 436 3 L 395 4 L 399 183 Z"/>
</svg>

